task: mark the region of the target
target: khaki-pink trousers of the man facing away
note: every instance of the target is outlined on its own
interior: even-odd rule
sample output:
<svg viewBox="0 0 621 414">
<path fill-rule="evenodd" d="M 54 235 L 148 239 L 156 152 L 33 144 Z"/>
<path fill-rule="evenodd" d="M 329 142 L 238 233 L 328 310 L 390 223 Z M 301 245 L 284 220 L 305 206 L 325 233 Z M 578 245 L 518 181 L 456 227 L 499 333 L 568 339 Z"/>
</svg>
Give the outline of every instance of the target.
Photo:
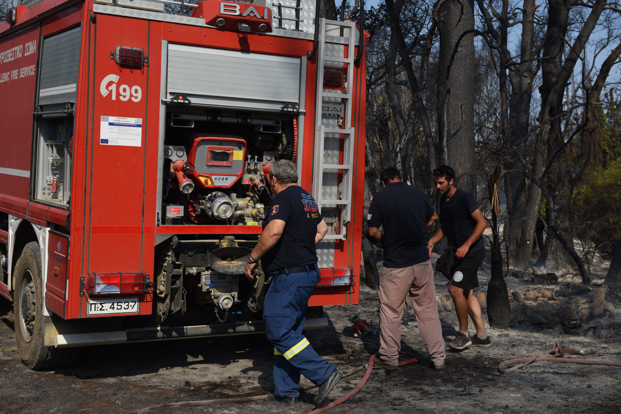
<svg viewBox="0 0 621 414">
<path fill-rule="evenodd" d="M 408 292 L 414 302 L 420 340 L 433 364 L 442 365 L 446 352 L 430 260 L 407 268 L 384 268 L 382 271 L 379 281 L 379 356 L 389 365 L 397 365 L 399 362 L 403 302 Z"/>
</svg>

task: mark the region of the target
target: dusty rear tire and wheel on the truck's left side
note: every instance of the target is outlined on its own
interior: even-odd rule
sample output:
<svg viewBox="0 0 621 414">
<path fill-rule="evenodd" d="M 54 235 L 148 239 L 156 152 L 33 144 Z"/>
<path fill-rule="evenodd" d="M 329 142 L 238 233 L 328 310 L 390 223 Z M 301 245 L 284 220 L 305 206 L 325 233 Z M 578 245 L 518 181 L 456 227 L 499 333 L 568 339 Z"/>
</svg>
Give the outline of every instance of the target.
<svg viewBox="0 0 621 414">
<path fill-rule="evenodd" d="M 13 313 L 17 351 L 30 369 L 45 369 L 73 364 L 79 348 L 45 346 L 45 326 L 50 317 L 43 316 L 43 278 L 39 244 L 31 241 L 24 246 L 17 260 Z"/>
</svg>

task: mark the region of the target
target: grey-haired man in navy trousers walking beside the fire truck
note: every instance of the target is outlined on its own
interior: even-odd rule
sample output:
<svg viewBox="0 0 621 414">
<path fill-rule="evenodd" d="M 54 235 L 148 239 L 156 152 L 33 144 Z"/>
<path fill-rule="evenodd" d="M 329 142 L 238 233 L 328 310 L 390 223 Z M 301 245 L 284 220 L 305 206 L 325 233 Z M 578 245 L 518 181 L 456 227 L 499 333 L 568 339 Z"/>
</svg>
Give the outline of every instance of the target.
<svg viewBox="0 0 621 414">
<path fill-rule="evenodd" d="M 332 362 L 320 358 L 302 335 L 308 300 L 319 281 L 315 244 L 324 238 L 328 226 L 315 200 L 297 186 L 296 166 L 291 161 L 272 164 L 270 186 L 276 197 L 246 265 L 246 277 L 251 281 L 258 259 L 272 275 L 263 307 L 265 331 L 274 345 L 275 391 L 268 401 L 297 407 L 302 374 L 319 385 L 314 399 L 319 405 L 343 374 Z"/>
</svg>

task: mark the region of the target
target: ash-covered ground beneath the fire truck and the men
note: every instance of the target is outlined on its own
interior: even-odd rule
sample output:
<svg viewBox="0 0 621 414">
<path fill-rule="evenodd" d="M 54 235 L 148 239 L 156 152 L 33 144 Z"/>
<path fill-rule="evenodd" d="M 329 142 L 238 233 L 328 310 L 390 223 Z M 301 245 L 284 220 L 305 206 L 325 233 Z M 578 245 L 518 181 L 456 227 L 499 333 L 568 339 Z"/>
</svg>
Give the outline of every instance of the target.
<svg viewBox="0 0 621 414">
<path fill-rule="evenodd" d="M 601 272 L 605 269 L 599 269 Z M 597 271 L 597 269 L 596 269 Z M 600 274 L 601 274 L 600 272 Z M 603 274 L 601 274 L 603 276 Z M 558 282 L 507 276 L 511 290 L 567 289 L 578 277 Z M 479 290 L 489 281 L 489 258 L 479 271 Z M 601 279 L 594 281 L 593 289 Z M 446 280 L 436 277 L 438 294 L 447 292 Z M 360 305 L 324 308 L 330 326 L 310 331 L 307 338 L 324 358 L 348 371 L 368 362 L 379 348 L 379 332 L 353 338 L 349 318 L 357 313 L 372 319 L 378 329 L 376 290 L 362 284 Z M 420 358 L 417 364 L 386 374 L 376 369 L 355 397 L 330 413 L 620 413 L 621 368 L 535 362 L 502 375 L 498 364 L 506 359 L 547 354 L 555 341 L 564 348 L 586 349 L 584 356 L 621 361 L 621 307 L 605 303 L 604 317 L 582 322 L 578 335 L 568 335 L 555 307 L 562 304 L 512 304 L 512 326 L 488 328 L 491 348 L 450 349 L 444 371 L 434 371 L 420 343 L 414 312 L 403 318 L 402 349 Z M 533 323 L 533 315 L 540 318 Z M 456 333 L 454 312 L 440 313 L 448 342 Z M 542 319 L 544 322 L 542 322 Z M 484 320 L 487 315 L 484 312 Z M 487 324 L 486 324 L 487 325 Z M 471 330 L 474 330 L 471 326 Z M 264 335 L 198 340 L 135 343 L 84 348 L 73 367 L 30 371 L 22 365 L 14 339 L 12 305 L 0 299 L 0 413 L 126 413 L 160 403 L 245 397 L 273 390 L 272 348 Z M 330 395 L 334 400 L 353 389 L 359 372 L 342 380 Z M 308 385 L 306 379 L 302 385 Z M 308 413 L 315 390 L 301 395 L 300 407 L 288 410 L 266 402 L 222 403 L 180 408 L 164 413 Z M 3 411 L 2 411 L 3 410 Z"/>
</svg>

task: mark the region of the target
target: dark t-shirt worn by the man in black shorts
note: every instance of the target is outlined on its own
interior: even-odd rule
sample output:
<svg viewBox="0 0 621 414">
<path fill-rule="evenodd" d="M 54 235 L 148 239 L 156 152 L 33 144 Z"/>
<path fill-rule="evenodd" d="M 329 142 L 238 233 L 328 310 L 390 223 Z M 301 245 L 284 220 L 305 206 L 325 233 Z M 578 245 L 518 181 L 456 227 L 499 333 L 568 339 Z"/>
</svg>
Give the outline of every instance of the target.
<svg viewBox="0 0 621 414">
<path fill-rule="evenodd" d="M 472 217 L 472 212 L 479 207 L 476 200 L 468 192 L 456 190 L 453 197 L 446 201 L 446 197 L 440 200 L 440 223 L 442 223 L 442 232 L 445 234 L 451 248 L 457 250 L 474 232 L 476 220 Z M 470 251 L 476 251 L 483 248 L 483 236 L 475 241 L 469 248 Z"/>
</svg>

